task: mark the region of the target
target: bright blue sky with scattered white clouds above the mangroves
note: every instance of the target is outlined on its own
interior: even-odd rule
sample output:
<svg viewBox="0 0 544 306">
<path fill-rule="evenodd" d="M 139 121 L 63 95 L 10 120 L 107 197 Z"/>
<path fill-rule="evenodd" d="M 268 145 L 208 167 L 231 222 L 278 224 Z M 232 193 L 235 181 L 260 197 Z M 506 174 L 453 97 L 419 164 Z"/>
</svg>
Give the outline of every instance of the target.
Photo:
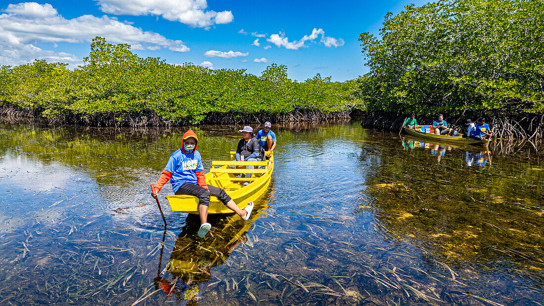
<svg viewBox="0 0 544 306">
<path fill-rule="evenodd" d="M 90 41 L 129 43 L 140 57 L 170 64 L 246 69 L 260 75 L 271 63 L 289 78 L 317 73 L 332 80 L 368 72 L 362 32 L 378 34 L 384 15 L 424 1 L 0 1 L 0 64 L 35 58 L 77 67 Z"/>
</svg>

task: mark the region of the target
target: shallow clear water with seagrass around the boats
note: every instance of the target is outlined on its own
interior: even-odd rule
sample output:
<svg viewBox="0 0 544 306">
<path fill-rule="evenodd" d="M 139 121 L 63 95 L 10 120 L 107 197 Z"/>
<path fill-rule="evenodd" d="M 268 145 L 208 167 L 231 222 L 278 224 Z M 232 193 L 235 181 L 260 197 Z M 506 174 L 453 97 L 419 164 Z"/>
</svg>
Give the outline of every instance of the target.
<svg viewBox="0 0 544 306">
<path fill-rule="evenodd" d="M 237 129 L 196 130 L 206 169 Z M 536 144 L 273 130 L 257 211 L 211 217 L 202 241 L 169 184 L 165 232 L 150 196 L 183 129 L 0 127 L 0 304 L 543 303 Z"/>
</svg>

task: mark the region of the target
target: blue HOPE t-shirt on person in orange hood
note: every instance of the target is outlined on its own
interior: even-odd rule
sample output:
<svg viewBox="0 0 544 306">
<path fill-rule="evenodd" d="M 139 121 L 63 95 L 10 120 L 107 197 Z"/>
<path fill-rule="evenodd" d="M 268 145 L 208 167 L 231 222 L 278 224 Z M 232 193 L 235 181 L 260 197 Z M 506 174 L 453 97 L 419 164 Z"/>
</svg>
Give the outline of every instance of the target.
<svg viewBox="0 0 544 306">
<path fill-rule="evenodd" d="M 176 152 L 170 155 L 168 164 L 164 170 L 171 172 L 172 190 L 176 192 L 184 183 L 198 184 L 196 179 L 196 171 L 203 171 L 202 157 L 200 152 L 195 150 L 194 154 L 187 154 L 182 149 L 177 149 Z"/>
</svg>

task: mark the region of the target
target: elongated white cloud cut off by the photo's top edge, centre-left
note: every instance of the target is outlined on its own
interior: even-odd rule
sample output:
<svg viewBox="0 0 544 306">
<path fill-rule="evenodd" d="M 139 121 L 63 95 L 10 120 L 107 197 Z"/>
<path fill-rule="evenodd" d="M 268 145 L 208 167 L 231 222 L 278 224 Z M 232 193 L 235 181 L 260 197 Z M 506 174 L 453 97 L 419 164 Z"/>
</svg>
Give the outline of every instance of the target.
<svg viewBox="0 0 544 306">
<path fill-rule="evenodd" d="M 104 13 L 114 15 L 153 15 L 191 27 L 208 28 L 232 22 L 231 11 L 205 11 L 206 0 L 95 0 Z"/>
</svg>

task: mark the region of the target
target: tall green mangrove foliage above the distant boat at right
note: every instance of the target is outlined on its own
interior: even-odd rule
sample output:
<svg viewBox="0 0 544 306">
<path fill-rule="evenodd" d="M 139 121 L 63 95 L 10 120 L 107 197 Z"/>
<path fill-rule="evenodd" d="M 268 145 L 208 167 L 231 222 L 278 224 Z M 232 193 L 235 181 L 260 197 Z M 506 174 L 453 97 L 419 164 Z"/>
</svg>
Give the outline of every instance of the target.
<svg viewBox="0 0 544 306">
<path fill-rule="evenodd" d="M 370 72 L 359 79 L 369 110 L 430 115 L 472 108 L 542 112 L 544 4 L 452 0 L 385 16 L 360 36 Z"/>
</svg>

